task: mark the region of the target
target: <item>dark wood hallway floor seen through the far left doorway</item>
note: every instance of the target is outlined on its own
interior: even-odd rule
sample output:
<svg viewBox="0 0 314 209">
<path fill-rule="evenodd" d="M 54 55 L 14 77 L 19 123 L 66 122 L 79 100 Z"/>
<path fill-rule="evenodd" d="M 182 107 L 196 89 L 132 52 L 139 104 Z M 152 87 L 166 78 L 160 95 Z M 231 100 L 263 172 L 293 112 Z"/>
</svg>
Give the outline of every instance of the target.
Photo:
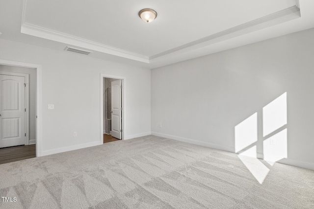
<svg viewBox="0 0 314 209">
<path fill-rule="evenodd" d="M 36 144 L 0 148 L 0 164 L 36 157 Z"/>
</svg>

